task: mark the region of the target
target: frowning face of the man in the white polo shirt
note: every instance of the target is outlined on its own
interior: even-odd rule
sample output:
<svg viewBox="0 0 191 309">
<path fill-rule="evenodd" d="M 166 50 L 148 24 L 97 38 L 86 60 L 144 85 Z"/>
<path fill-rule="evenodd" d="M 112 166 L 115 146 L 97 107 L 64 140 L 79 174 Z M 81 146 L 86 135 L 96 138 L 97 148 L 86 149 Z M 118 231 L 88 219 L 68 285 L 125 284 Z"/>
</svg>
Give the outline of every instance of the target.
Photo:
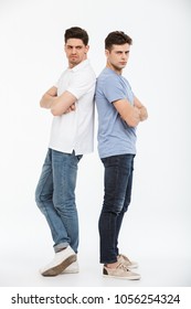
<svg viewBox="0 0 191 309">
<path fill-rule="evenodd" d="M 65 44 L 65 53 L 70 67 L 74 67 L 86 60 L 88 46 L 85 46 L 81 39 L 68 39 Z"/>
</svg>

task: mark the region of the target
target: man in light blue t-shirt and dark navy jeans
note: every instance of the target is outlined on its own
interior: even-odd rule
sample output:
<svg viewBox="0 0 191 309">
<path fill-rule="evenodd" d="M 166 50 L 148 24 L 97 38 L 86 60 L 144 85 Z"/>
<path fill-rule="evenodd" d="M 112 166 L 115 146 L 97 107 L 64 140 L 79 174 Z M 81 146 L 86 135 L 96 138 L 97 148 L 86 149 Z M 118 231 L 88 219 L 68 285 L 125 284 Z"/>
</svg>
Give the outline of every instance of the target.
<svg viewBox="0 0 191 309">
<path fill-rule="evenodd" d="M 147 119 L 147 109 L 121 75 L 132 40 L 121 31 L 105 39 L 106 67 L 96 84 L 98 152 L 105 168 L 105 194 L 99 216 L 103 275 L 139 279 L 130 269 L 138 266 L 119 253 L 118 236 L 131 196 L 136 127 Z"/>
</svg>

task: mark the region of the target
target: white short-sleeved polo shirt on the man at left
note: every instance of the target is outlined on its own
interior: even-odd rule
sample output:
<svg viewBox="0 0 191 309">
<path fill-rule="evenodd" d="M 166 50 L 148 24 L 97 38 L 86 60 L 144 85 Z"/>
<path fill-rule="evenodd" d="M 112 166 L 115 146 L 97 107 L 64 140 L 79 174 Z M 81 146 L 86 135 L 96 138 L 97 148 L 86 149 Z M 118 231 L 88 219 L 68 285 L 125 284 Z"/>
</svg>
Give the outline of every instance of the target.
<svg viewBox="0 0 191 309">
<path fill-rule="evenodd" d="M 88 62 L 83 61 L 61 75 L 57 95 L 65 90 L 77 100 L 76 109 L 62 116 L 54 116 L 49 147 L 51 149 L 75 154 L 85 154 L 94 150 L 94 108 L 96 75 Z"/>
</svg>

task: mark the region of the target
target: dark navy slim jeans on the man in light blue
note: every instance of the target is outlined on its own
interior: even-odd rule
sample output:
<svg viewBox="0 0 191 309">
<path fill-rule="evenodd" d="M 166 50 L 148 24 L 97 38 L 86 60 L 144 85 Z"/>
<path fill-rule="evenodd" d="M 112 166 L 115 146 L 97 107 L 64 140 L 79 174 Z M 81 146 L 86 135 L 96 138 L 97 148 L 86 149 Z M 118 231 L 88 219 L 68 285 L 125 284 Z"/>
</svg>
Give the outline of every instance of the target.
<svg viewBox="0 0 191 309">
<path fill-rule="evenodd" d="M 118 236 L 130 204 L 135 154 L 102 159 L 105 167 L 104 204 L 99 216 L 100 263 L 117 262 Z"/>
</svg>

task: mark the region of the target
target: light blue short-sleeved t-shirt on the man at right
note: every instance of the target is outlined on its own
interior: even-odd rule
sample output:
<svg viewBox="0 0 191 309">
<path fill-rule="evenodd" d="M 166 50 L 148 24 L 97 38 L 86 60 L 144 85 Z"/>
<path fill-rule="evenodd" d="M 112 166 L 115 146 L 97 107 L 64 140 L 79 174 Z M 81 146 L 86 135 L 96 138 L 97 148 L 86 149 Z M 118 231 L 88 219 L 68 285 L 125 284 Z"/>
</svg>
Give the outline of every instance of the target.
<svg viewBox="0 0 191 309">
<path fill-rule="evenodd" d="M 113 102 L 127 98 L 134 104 L 128 81 L 106 67 L 97 77 L 95 100 L 98 113 L 98 153 L 100 158 L 136 154 L 136 128 L 125 122 Z"/>
</svg>

